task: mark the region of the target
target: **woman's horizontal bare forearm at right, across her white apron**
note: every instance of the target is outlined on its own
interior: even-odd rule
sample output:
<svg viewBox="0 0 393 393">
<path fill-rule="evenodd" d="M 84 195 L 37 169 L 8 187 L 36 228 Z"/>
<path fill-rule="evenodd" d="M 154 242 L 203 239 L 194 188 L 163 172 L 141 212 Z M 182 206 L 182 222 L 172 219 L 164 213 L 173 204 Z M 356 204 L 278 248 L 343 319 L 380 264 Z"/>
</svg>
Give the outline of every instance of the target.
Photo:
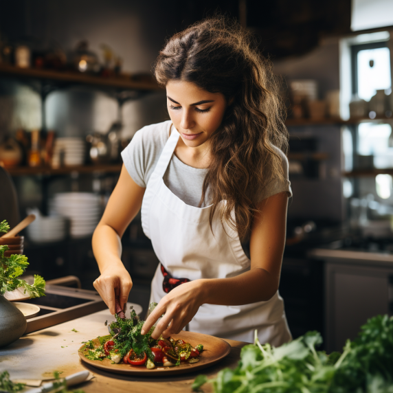
<svg viewBox="0 0 393 393">
<path fill-rule="evenodd" d="M 233 278 L 199 281 L 203 303 L 239 306 L 269 300 L 278 289 L 279 278 L 256 267 Z"/>
</svg>

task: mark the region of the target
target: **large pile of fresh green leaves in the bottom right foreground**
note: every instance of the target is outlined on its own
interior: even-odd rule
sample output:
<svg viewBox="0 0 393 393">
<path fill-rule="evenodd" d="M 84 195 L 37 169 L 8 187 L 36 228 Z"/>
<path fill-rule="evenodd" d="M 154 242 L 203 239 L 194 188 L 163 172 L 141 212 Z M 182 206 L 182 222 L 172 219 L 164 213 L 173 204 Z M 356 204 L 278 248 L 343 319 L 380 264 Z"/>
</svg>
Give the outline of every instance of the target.
<svg viewBox="0 0 393 393">
<path fill-rule="evenodd" d="M 393 393 L 393 317 L 377 316 L 362 326 L 344 351 L 326 355 L 317 332 L 273 348 L 255 344 L 242 348 L 234 370 L 214 379 L 200 375 L 192 388 L 212 383 L 216 393 Z"/>
</svg>

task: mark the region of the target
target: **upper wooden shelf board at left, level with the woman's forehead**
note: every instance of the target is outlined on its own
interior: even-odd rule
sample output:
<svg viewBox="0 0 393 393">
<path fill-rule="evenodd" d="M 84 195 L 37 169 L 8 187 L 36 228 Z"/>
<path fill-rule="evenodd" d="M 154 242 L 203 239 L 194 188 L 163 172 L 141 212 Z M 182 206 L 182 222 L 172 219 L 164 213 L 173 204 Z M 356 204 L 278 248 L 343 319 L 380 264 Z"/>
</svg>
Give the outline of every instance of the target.
<svg viewBox="0 0 393 393">
<path fill-rule="evenodd" d="M 94 85 L 107 88 L 155 91 L 161 87 L 155 82 L 138 82 L 119 76 L 117 78 L 102 78 L 88 74 L 80 74 L 71 71 L 54 71 L 50 69 L 19 68 L 10 65 L 0 65 L 0 76 L 18 76 L 23 78 L 36 78 L 43 80 L 54 80 L 58 82 L 78 83 L 83 85 Z"/>
</svg>

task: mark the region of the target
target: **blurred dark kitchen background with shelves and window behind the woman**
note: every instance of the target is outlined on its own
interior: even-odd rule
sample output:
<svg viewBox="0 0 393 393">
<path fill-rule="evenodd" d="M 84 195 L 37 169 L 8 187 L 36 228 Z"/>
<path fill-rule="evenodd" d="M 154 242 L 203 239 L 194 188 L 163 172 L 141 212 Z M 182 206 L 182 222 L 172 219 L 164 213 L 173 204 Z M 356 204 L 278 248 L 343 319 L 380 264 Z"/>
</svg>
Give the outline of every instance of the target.
<svg viewBox="0 0 393 393">
<path fill-rule="evenodd" d="M 29 273 L 93 289 L 91 234 L 120 152 L 169 118 L 151 67 L 215 11 L 254 32 L 282 76 L 293 199 L 280 293 L 294 337 L 319 330 L 340 349 L 393 313 L 392 1 L 1 0 L 0 221 L 34 212 Z M 158 260 L 140 216 L 122 243 L 146 309 Z"/>
</svg>

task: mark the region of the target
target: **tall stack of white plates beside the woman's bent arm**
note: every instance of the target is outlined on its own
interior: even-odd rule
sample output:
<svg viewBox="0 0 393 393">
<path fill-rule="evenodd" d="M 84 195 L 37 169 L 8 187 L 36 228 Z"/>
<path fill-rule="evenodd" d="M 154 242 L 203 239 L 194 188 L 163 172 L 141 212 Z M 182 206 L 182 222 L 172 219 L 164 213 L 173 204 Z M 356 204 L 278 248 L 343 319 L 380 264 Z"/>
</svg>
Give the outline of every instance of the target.
<svg viewBox="0 0 393 393">
<path fill-rule="evenodd" d="M 63 192 L 49 202 L 49 212 L 69 218 L 72 238 L 93 234 L 101 218 L 100 197 L 89 192 Z"/>
</svg>

